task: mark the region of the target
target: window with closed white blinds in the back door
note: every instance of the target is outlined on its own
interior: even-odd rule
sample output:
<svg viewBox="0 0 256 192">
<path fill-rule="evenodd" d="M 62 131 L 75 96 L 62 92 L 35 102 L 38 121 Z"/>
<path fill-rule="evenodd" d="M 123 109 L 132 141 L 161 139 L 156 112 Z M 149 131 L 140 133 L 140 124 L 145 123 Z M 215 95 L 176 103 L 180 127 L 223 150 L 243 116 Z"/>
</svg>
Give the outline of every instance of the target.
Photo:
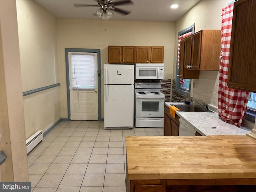
<svg viewBox="0 0 256 192">
<path fill-rule="evenodd" d="M 95 89 L 94 54 L 71 54 L 72 86 L 73 89 Z"/>
</svg>

